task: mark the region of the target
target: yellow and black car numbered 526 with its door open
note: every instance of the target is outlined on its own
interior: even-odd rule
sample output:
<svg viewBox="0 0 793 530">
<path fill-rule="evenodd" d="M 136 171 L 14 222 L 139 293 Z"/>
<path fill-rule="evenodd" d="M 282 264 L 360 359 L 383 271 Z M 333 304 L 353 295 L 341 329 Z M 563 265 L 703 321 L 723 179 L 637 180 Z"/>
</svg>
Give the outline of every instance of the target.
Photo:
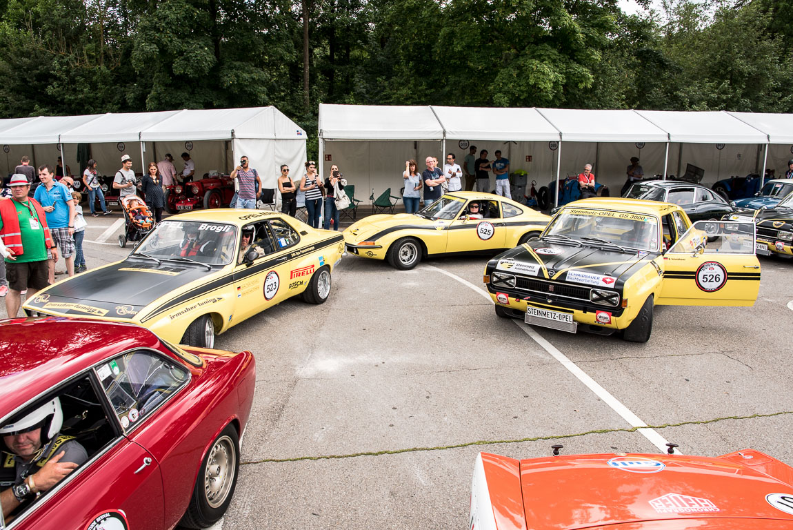
<svg viewBox="0 0 793 530">
<path fill-rule="evenodd" d="M 646 342 L 654 305 L 753 305 L 754 245 L 752 222 L 692 226 L 678 205 L 584 199 L 491 259 L 484 279 L 499 317 Z"/>
</svg>

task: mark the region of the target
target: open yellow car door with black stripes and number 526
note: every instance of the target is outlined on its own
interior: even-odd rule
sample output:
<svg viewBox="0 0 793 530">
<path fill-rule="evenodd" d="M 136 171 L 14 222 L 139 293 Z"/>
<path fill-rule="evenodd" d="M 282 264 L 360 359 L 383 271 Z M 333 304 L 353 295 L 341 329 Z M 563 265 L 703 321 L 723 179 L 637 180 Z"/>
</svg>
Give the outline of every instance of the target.
<svg viewBox="0 0 793 530">
<path fill-rule="evenodd" d="M 753 223 L 697 221 L 664 254 L 658 305 L 754 305 L 760 262 Z"/>
</svg>

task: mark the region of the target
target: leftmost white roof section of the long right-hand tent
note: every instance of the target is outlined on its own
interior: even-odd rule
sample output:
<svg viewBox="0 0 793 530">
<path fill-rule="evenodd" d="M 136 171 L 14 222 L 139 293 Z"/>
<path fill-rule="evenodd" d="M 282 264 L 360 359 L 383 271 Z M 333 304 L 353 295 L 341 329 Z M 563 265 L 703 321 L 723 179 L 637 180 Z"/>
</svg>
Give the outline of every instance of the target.
<svg viewBox="0 0 793 530">
<path fill-rule="evenodd" d="M 320 103 L 325 140 L 441 140 L 443 129 L 429 106 L 326 105 Z"/>
</svg>

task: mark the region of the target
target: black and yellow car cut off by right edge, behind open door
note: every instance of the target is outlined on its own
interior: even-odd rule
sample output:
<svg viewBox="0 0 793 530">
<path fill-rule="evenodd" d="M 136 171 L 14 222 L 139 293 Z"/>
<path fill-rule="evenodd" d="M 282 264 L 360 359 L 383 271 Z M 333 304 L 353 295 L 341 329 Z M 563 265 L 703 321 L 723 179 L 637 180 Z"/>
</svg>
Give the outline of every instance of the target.
<svg viewBox="0 0 793 530">
<path fill-rule="evenodd" d="M 745 209 L 723 219 L 757 225 L 757 254 L 793 255 L 793 194 L 773 208 Z"/>
</svg>

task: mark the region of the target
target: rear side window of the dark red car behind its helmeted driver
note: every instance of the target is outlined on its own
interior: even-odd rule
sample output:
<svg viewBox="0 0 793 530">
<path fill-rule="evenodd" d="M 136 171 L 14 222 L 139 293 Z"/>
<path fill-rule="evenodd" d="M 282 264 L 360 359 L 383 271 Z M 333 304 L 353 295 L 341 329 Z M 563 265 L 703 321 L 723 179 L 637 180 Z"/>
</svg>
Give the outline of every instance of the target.
<svg viewBox="0 0 793 530">
<path fill-rule="evenodd" d="M 190 380 L 186 367 L 150 350 L 128 351 L 96 371 L 125 431 L 135 428 Z"/>
</svg>

